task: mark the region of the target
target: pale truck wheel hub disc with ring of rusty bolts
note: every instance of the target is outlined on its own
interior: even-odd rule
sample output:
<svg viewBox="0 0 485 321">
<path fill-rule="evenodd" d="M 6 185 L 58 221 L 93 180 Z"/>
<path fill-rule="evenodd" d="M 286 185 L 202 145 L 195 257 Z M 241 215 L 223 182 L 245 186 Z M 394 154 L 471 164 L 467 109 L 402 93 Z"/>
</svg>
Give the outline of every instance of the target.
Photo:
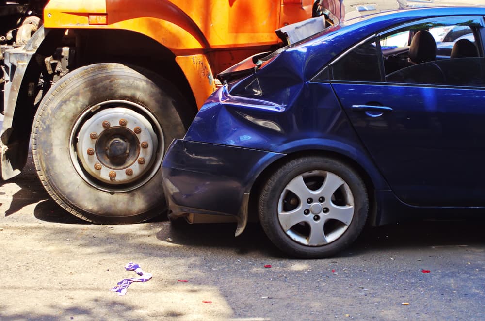
<svg viewBox="0 0 485 321">
<path fill-rule="evenodd" d="M 143 113 L 114 107 L 84 115 L 76 153 L 85 177 L 102 184 L 136 184 L 153 170 L 159 139 Z"/>
</svg>

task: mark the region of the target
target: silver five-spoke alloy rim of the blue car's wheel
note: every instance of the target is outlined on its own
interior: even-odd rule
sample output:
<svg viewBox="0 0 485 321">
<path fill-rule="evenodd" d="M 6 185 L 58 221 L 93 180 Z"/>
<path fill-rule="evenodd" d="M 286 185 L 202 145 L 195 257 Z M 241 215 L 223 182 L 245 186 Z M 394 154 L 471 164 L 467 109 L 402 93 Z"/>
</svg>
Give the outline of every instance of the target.
<svg viewBox="0 0 485 321">
<path fill-rule="evenodd" d="M 322 246 L 337 240 L 354 217 L 354 196 L 338 175 L 308 171 L 294 177 L 278 200 L 278 220 L 294 241 Z"/>
</svg>

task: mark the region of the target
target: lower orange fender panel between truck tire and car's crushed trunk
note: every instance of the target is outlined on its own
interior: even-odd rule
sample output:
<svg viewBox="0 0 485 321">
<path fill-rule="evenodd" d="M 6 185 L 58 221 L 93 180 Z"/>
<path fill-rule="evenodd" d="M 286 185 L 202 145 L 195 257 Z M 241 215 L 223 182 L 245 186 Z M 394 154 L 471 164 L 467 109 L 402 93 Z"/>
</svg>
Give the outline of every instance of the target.
<svg viewBox="0 0 485 321">
<path fill-rule="evenodd" d="M 202 107 L 207 97 L 215 90 L 212 71 L 206 56 L 177 56 L 175 60 L 189 81 L 197 108 Z"/>
</svg>

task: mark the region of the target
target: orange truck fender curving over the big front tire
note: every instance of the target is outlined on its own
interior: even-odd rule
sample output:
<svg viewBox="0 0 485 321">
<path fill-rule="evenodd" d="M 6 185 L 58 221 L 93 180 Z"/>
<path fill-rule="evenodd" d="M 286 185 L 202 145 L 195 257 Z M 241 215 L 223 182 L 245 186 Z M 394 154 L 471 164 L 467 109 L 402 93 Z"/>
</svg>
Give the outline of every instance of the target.
<svg viewBox="0 0 485 321">
<path fill-rule="evenodd" d="M 46 28 L 118 29 L 143 34 L 177 56 L 176 62 L 199 108 L 215 90 L 205 55 L 205 50 L 210 49 L 209 42 L 197 23 L 181 8 L 167 0 L 140 0 L 134 11 L 129 10 L 133 7 L 132 0 L 107 0 L 105 6 L 96 1 L 89 3 L 92 7 L 75 8 L 76 14 L 73 14 L 71 2 L 50 1 L 44 11 L 44 25 Z M 94 16 L 105 17 L 106 22 L 93 21 Z M 189 54 L 187 49 L 190 49 Z M 205 76 L 204 81 L 201 81 L 201 74 Z"/>
</svg>

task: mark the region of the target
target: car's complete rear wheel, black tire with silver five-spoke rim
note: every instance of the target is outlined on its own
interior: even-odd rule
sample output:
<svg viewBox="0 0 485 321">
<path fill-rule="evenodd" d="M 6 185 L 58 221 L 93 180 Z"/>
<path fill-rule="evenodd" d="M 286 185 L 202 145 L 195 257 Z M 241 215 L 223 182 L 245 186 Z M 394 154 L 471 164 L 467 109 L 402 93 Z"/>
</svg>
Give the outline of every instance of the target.
<svg viewBox="0 0 485 321">
<path fill-rule="evenodd" d="M 259 197 L 259 221 L 282 251 L 295 257 L 332 256 L 362 231 L 366 187 L 345 163 L 308 156 L 281 165 Z"/>
</svg>

